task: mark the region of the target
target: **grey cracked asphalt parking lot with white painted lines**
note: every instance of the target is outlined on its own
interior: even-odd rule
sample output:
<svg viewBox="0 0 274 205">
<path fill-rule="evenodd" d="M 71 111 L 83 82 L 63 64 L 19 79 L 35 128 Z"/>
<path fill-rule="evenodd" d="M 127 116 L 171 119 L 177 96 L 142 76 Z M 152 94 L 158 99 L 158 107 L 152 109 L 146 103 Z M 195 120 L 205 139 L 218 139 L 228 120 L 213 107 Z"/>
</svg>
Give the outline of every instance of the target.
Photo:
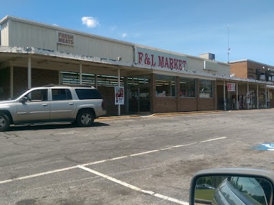
<svg viewBox="0 0 274 205">
<path fill-rule="evenodd" d="M 0 204 L 188 204 L 200 169 L 273 170 L 274 110 L 101 118 L 0 133 Z"/>
</svg>

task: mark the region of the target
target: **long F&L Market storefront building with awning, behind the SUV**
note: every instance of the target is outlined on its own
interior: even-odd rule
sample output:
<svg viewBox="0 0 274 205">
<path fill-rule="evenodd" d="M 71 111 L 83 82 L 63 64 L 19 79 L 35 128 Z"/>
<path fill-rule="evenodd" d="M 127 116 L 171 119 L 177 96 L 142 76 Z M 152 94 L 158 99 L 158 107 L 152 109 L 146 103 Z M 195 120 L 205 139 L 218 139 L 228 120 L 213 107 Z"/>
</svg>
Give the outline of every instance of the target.
<svg viewBox="0 0 274 205">
<path fill-rule="evenodd" d="M 5 16 L 0 20 L 0 99 L 53 84 L 97 87 L 108 115 L 240 109 L 249 91 L 260 99 L 273 82 L 230 77 L 230 65 Z M 228 85 L 236 90 L 228 91 Z M 114 87 L 123 86 L 124 105 Z M 269 87 L 267 87 L 269 86 Z M 267 88 L 266 88 L 267 87 Z M 262 105 L 266 106 L 264 96 Z M 233 102 L 233 100 L 232 100 Z M 247 109 L 251 104 L 245 105 Z M 253 105 L 252 105 L 253 106 Z M 256 101 L 255 109 L 258 109 Z"/>
</svg>

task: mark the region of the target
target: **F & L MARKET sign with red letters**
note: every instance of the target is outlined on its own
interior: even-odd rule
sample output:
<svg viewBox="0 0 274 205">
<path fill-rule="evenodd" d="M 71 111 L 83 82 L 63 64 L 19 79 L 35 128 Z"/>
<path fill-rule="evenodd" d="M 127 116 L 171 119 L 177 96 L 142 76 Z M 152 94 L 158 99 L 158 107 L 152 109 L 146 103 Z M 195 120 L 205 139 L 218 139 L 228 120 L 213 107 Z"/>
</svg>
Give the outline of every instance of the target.
<svg viewBox="0 0 274 205">
<path fill-rule="evenodd" d="M 136 48 L 136 64 L 145 64 L 151 67 L 157 66 L 179 71 L 187 70 L 186 61 L 187 58 L 184 56 Z"/>
</svg>

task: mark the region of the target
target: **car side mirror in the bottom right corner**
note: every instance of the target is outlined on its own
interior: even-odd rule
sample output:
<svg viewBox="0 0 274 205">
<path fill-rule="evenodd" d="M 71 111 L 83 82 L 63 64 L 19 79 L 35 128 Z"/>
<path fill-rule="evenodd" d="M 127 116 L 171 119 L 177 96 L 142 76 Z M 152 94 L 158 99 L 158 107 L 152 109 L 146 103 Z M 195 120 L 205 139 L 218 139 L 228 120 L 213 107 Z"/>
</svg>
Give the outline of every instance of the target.
<svg viewBox="0 0 274 205">
<path fill-rule="evenodd" d="M 190 183 L 189 204 L 273 204 L 274 175 L 259 169 L 206 169 Z"/>
</svg>

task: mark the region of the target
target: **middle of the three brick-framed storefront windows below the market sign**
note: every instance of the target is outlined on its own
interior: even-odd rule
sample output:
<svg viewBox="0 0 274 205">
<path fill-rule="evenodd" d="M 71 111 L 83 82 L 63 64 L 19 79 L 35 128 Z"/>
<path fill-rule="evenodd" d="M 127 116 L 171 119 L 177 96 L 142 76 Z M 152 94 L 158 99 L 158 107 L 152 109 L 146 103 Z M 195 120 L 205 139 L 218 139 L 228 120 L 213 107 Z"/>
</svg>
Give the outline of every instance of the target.
<svg viewBox="0 0 274 205">
<path fill-rule="evenodd" d="M 196 79 L 179 79 L 179 96 L 184 98 L 196 97 Z"/>
</svg>

